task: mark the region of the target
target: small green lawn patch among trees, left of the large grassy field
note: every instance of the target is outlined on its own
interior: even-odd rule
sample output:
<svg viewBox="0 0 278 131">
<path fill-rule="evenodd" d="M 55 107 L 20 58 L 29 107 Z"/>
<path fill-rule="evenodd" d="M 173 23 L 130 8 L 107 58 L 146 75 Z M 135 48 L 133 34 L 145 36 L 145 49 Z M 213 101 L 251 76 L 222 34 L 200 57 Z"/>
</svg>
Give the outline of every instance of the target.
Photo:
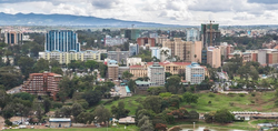
<svg viewBox="0 0 278 131">
<path fill-rule="evenodd" d="M 130 110 L 129 115 L 135 115 L 136 109 L 145 98 L 146 95 L 133 95 L 133 97 L 122 98 L 117 101 L 113 101 L 112 103 L 106 104 L 105 107 L 110 110 L 112 105 L 118 105 L 118 102 L 123 101 L 126 105 L 125 108 Z"/>
</svg>

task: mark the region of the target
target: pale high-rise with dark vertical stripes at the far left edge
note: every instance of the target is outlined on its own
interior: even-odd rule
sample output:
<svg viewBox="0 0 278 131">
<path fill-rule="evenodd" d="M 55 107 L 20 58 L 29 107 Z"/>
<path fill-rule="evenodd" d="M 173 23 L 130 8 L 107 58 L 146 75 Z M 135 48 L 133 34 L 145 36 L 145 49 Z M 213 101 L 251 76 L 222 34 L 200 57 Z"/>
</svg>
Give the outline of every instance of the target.
<svg viewBox="0 0 278 131">
<path fill-rule="evenodd" d="M 4 32 L 4 43 L 8 44 L 23 44 L 23 33 L 17 31 Z"/>
</svg>

